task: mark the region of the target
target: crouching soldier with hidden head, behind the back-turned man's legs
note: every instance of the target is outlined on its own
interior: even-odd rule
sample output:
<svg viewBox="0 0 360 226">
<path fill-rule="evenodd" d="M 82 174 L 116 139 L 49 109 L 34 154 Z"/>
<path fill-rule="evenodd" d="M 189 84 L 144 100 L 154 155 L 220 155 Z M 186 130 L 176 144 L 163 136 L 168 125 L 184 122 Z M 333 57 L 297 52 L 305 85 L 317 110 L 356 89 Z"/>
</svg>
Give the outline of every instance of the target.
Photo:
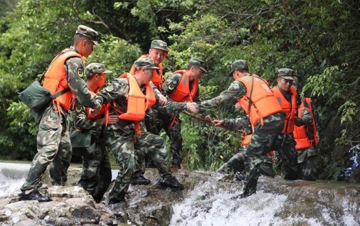
<svg viewBox="0 0 360 226">
<path fill-rule="evenodd" d="M 240 107 L 240 105 L 237 103 Z M 214 126 L 220 126 L 227 128 L 229 130 L 238 130 L 242 129 L 245 135 L 241 142 L 241 147 L 233 157 L 231 157 L 226 163 L 224 163 L 219 169 L 217 169 L 217 173 L 221 174 L 235 174 L 238 179 L 242 180 L 245 176 L 243 175 L 244 167 L 244 159 L 247 147 L 249 145 L 251 139 L 252 128 L 249 125 L 249 120 L 247 118 L 237 118 L 237 119 L 224 119 L 224 120 L 213 120 L 212 124 Z M 272 168 L 272 155 L 273 151 L 270 151 L 266 154 L 266 158 L 263 163 L 260 165 L 260 174 L 264 176 L 274 177 L 274 171 Z"/>
</svg>

